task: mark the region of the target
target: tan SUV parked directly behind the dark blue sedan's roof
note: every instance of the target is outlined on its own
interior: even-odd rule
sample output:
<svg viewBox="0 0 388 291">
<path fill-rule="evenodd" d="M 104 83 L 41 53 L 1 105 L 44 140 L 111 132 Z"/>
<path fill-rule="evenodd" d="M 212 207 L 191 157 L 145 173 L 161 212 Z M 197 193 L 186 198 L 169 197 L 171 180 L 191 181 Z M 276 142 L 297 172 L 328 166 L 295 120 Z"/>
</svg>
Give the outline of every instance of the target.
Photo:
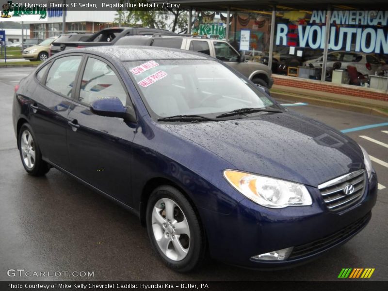
<svg viewBox="0 0 388 291">
<path fill-rule="evenodd" d="M 272 71 L 267 65 L 246 62 L 245 57 L 224 40 L 194 35 L 132 35 L 122 37 L 115 45 L 143 45 L 197 51 L 223 61 L 255 84 L 270 89 L 274 83 Z"/>
</svg>

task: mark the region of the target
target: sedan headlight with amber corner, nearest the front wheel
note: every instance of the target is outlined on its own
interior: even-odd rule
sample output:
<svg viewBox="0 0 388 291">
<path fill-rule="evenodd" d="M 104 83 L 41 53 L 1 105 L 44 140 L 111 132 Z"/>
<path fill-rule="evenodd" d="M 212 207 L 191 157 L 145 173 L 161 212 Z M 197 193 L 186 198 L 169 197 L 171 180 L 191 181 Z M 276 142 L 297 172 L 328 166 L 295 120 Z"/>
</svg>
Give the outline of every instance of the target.
<svg viewBox="0 0 388 291">
<path fill-rule="evenodd" d="M 312 204 L 302 184 L 233 170 L 225 170 L 224 177 L 241 194 L 261 206 L 285 208 Z"/>
</svg>

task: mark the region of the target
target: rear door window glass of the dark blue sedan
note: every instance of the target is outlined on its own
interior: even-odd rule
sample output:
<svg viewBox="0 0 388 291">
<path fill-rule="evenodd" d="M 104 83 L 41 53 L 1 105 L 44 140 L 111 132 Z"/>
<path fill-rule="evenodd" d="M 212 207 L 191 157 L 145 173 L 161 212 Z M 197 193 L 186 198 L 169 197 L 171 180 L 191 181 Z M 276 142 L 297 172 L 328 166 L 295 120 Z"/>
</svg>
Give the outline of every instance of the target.
<svg viewBox="0 0 388 291">
<path fill-rule="evenodd" d="M 56 60 L 50 67 L 46 79 L 46 86 L 62 95 L 70 97 L 81 60 L 81 56 L 69 56 Z"/>
</svg>

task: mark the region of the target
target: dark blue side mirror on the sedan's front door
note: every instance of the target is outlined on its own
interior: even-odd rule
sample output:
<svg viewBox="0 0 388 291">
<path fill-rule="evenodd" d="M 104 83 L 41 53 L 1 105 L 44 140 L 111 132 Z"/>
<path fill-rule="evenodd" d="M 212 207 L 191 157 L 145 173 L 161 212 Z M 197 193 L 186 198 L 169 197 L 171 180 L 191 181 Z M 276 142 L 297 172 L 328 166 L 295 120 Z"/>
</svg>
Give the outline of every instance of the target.
<svg viewBox="0 0 388 291">
<path fill-rule="evenodd" d="M 125 107 L 117 97 L 97 99 L 90 105 L 90 110 L 96 115 L 120 117 L 130 122 L 136 122 L 136 115 L 133 108 Z"/>
</svg>

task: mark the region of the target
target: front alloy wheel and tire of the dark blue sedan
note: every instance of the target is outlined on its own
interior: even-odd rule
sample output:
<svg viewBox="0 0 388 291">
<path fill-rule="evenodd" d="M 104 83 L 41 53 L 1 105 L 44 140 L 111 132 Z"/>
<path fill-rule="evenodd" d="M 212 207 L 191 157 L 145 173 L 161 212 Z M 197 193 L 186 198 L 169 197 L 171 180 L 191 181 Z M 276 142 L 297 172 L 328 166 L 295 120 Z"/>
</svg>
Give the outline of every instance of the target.
<svg viewBox="0 0 388 291">
<path fill-rule="evenodd" d="M 188 272 L 203 261 L 205 239 L 199 219 L 176 188 L 161 186 L 153 191 L 146 222 L 151 244 L 168 267 Z"/>
</svg>

